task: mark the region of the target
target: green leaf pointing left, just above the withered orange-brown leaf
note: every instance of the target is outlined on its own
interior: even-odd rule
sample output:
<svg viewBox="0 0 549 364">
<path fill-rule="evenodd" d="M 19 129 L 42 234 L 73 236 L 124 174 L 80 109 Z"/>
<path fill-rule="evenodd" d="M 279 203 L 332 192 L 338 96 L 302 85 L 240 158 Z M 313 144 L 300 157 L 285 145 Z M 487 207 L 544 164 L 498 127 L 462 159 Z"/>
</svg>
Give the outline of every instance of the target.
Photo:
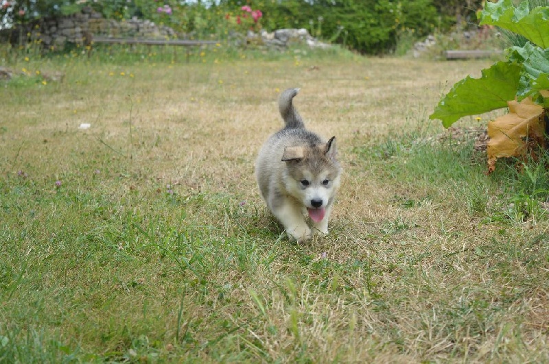
<svg viewBox="0 0 549 364">
<path fill-rule="evenodd" d="M 498 62 L 482 70 L 482 77 L 456 83 L 441 99 L 429 119 L 439 119 L 445 128 L 467 115 L 476 115 L 505 108 L 514 100 L 521 66 L 513 62 Z"/>
</svg>

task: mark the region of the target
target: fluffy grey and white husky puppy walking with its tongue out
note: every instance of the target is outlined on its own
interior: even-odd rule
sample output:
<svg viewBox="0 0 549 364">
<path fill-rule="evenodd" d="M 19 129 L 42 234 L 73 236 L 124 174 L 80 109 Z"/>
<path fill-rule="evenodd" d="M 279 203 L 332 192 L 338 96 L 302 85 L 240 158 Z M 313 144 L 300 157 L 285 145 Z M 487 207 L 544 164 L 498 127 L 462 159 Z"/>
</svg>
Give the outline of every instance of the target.
<svg viewBox="0 0 549 364">
<path fill-rule="evenodd" d="M 305 130 L 292 105 L 298 92 L 299 88 L 289 88 L 280 95 L 285 127 L 261 147 L 255 176 L 268 208 L 286 232 L 301 243 L 316 232 L 328 233 L 341 167 L 336 160 L 336 137 L 325 141 Z"/>
</svg>

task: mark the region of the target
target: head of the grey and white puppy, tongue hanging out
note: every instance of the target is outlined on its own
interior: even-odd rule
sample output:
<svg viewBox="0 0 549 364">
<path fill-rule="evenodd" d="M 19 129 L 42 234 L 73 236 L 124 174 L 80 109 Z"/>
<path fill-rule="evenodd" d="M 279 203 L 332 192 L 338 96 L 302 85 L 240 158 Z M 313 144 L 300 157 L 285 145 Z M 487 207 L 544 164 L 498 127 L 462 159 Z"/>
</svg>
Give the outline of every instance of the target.
<svg viewBox="0 0 549 364">
<path fill-rule="evenodd" d="M 325 144 L 286 147 L 285 189 L 307 208 L 309 217 L 322 221 L 340 184 L 341 167 L 336 159 L 336 137 Z"/>
</svg>

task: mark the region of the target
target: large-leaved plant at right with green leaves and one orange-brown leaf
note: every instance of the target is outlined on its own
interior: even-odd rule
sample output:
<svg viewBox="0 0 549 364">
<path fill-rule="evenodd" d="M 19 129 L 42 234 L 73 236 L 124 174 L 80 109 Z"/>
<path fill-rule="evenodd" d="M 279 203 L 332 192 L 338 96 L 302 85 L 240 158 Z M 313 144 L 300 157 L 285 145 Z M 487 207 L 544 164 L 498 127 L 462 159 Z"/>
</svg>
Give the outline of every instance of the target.
<svg viewBox="0 0 549 364">
<path fill-rule="evenodd" d="M 523 45 L 506 49 L 506 60 L 482 70 L 482 77 L 466 77 L 441 99 L 430 119 L 445 128 L 468 115 L 509 108 L 509 114 L 488 123 L 489 172 L 497 158 L 524 156 L 533 145 L 546 143 L 549 110 L 549 1 L 487 2 L 479 13 L 480 25 L 495 25 L 517 37 Z"/>
</svg>

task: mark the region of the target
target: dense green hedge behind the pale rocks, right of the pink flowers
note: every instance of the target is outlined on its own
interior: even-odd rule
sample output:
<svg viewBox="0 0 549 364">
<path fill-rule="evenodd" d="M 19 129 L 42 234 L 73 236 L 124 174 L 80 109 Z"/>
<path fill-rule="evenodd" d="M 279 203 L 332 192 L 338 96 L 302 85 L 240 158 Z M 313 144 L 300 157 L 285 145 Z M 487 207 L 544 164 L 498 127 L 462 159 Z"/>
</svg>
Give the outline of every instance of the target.
<svg viewBox="0 0 549 364">
<path fill-rule="evenodd" d="M 222 1 L 227 6 L 237 3 Z M 439 24 L 432 0 L 259 0 L 253 4 L 264 13 L 267 30 L 302 27 L 313 36 L 360 53 L 393 51 L 399 36 L 408 29 L 421 37 Z"/>
</svg>

